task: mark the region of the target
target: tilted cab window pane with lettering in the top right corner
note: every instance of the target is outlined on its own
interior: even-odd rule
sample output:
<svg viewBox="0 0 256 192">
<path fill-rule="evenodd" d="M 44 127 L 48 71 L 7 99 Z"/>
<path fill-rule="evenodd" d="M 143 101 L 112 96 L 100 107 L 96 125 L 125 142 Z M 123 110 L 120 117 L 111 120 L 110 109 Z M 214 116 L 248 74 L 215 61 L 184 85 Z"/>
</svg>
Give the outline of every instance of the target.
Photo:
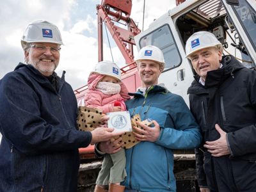
<svg viewBox="0 0 256 192">
<path fill-rule="evenodd" d="M 239 1 L 239 6 L 233 6 L 247 36 L 256 50 L 256 13 L 246 1 Z"/>
</svg>

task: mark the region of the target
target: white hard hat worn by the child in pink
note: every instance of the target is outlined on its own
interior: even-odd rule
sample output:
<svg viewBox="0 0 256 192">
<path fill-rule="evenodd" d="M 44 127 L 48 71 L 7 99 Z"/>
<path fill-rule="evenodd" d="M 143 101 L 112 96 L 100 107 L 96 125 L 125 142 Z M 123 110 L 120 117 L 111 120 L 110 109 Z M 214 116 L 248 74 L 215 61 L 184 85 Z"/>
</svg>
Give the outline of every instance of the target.
<svg viewBox="0 0 256 192">
<path fill-rule="evenodd" d="M 111 61 L 100 61 L 95 65 L 92 73 L 115 77 L 121 81 L 120 68 L 116 65 L 116 63 Z"/>
</svg>

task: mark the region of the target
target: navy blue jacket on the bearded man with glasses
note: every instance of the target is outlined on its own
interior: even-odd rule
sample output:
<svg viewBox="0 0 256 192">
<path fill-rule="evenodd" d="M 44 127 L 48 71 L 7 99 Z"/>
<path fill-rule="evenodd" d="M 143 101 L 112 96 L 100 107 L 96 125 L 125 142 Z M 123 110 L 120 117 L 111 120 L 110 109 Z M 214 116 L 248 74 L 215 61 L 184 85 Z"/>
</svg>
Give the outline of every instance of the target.
<svg viewBox="0 0 256 192">
<path fill-rule="evenodd" d="M 58 77 L 57 90 L 31 65 L 19 63 L 0 80 L 0 191 L 76 191 L 79 147 L 77 102 Z"/>
</svg>

